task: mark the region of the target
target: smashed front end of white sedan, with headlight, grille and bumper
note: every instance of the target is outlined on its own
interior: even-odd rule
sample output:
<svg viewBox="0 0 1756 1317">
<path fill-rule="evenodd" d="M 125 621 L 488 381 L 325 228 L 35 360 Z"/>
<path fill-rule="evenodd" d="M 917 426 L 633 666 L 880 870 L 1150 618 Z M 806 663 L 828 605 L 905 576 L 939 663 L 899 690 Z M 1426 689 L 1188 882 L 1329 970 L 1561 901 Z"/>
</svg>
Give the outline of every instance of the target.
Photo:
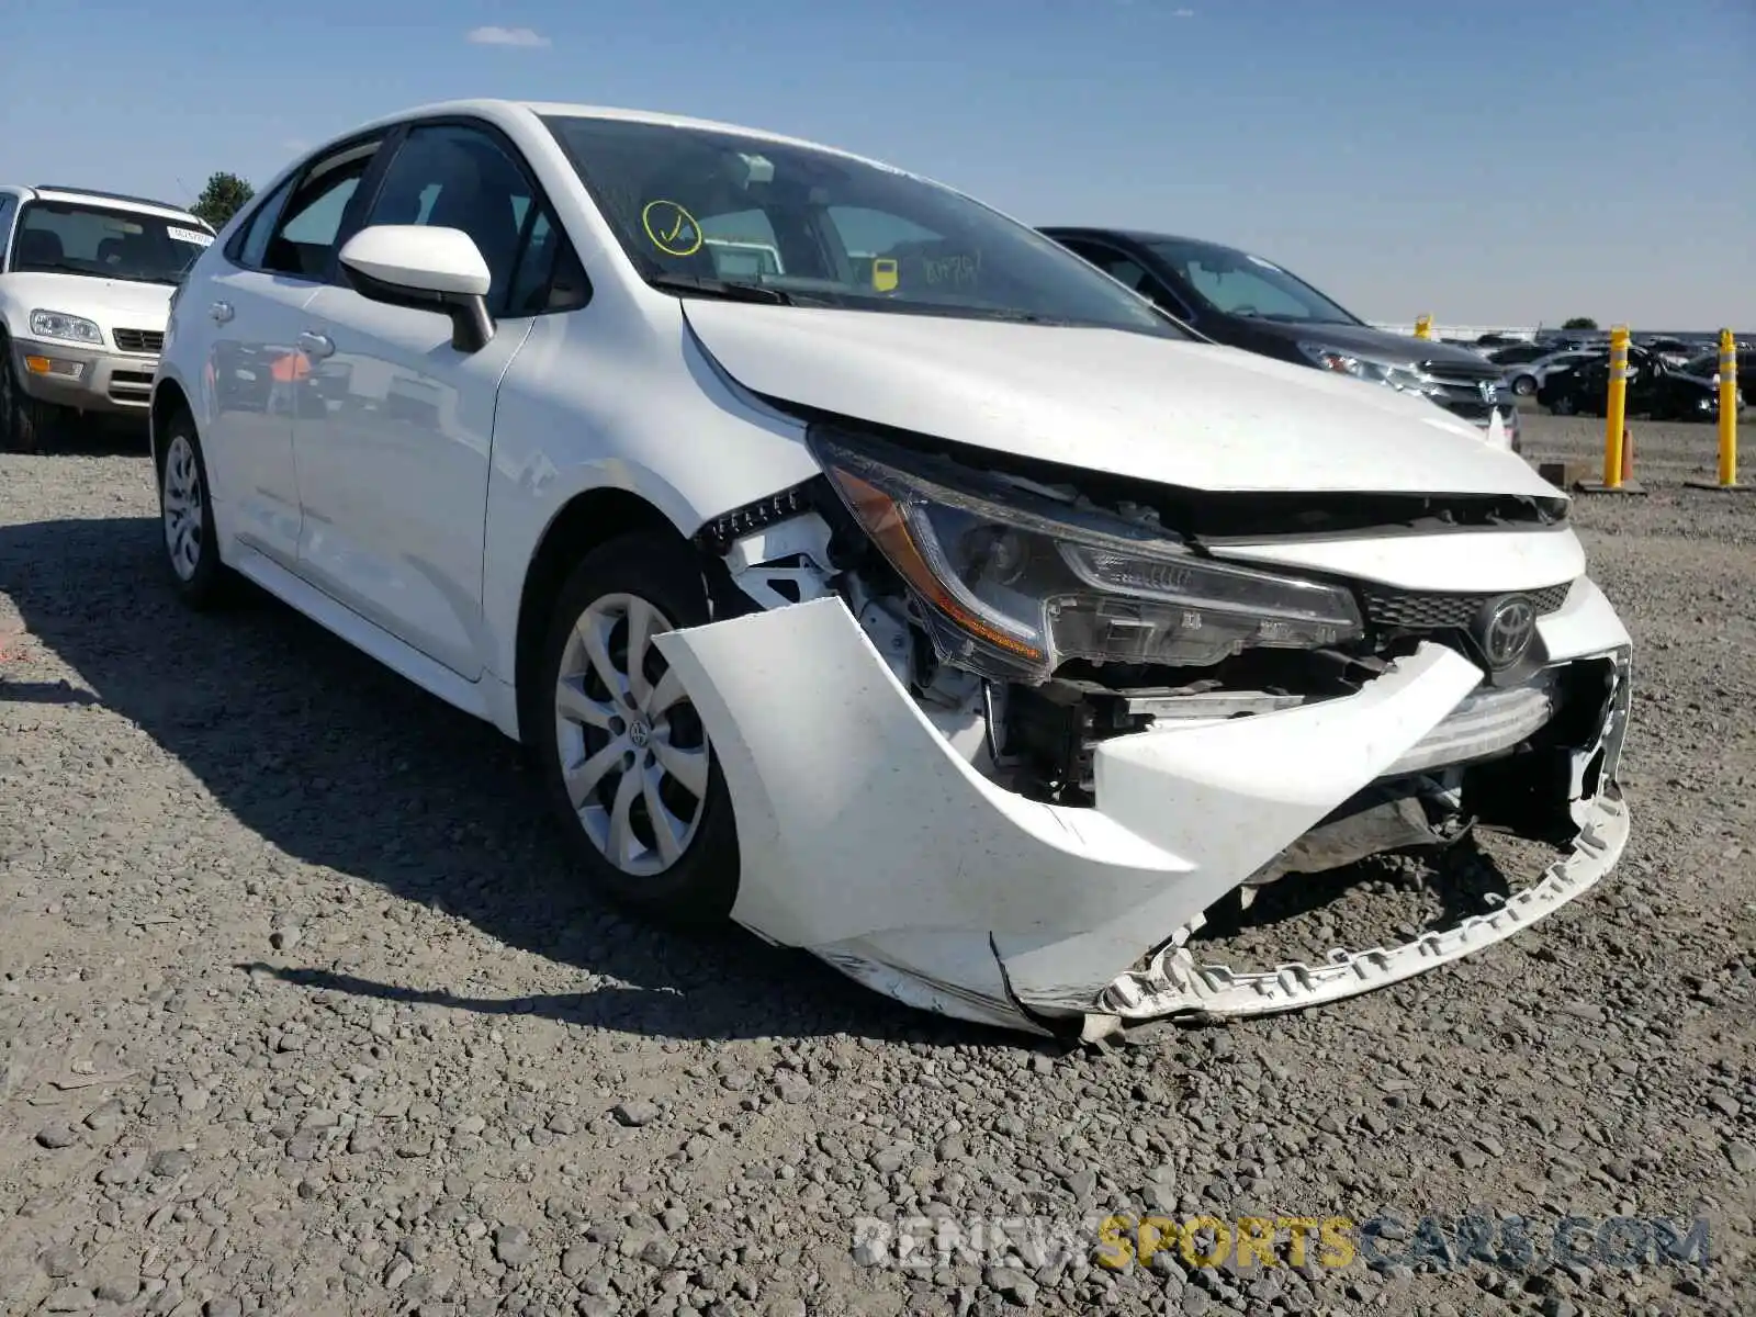
<svg viewBox="0 0 1756 1317">
<path fill-rule="evenodd" d="M 702 532 L 753 611 L 657 641 L 757 934 L 1096 1040 L 1407 978 L 1616 864 L 1631 646 L 1565 500 L 1187 497 L 825 423 L 813 448 L 824 481 Z M 1482 588 L 1382 567 L 1456 578 L 1459 553 Z M 1192 941 L 1270 885 L 1479 827 L 1563 850 L 1401 945 L 1243 969 Z"/>
</svg>

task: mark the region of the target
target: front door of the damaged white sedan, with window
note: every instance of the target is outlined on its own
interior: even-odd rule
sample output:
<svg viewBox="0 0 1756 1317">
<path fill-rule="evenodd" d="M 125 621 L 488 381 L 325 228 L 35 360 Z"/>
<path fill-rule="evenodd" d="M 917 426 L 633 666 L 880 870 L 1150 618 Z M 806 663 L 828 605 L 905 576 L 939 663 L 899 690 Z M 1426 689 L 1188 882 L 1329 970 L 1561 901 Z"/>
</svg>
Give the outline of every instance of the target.
<svg viewBox="0 0 1756 1317">
<path fill-rule="evenodd" d="M 465 680 L 481 676 L 483 520 L 500 379 L 530 332 L 506 316 L 536 188 L 511 148 L 462 123 L 418 125 L 365 225 L 434 225 L 474 239 L 493 276 L 497 332 L 451 346 L 441 314 L 325 286 L 306 307 L 323 406 L 293 446 L 304 534 L 299 571 Z"/>
</svg>

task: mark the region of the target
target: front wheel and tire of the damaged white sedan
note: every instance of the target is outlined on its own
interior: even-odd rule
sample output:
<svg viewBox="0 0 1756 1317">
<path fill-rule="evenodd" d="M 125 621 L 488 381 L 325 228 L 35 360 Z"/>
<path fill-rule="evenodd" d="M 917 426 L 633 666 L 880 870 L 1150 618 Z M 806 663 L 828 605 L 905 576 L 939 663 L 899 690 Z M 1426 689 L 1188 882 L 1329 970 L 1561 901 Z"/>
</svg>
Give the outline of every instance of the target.
<svg viewBox="0 0 1756 1317">
<path fill-rule="evenodd" d="M 562 587 L 534 687 L 520 692 L 544 794 L 592 885 L 641 915 L 697 927 L 725 920 L 738 897 L 732 801 L 658 650 L 646 646 L 636 683 L 627 646 L 639 618 L 648 636 L 709 622 L 708 588 L 694 553 L 666 536 L 595 548 Z M 595 658 L 588 634 L 602 639 Z"/>
</svg>

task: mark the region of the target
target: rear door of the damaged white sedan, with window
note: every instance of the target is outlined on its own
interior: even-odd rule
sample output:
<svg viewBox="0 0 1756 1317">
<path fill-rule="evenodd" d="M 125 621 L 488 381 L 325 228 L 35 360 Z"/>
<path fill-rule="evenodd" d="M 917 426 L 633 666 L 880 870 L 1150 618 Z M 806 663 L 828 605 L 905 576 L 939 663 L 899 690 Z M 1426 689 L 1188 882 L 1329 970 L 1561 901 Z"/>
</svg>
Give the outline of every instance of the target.
<svg viewBox="0 0 1756 1317">
<path fill-rule="evenodd" d="M 379 139 L 314 158 L 276 190 L 227 244 L 202 288 L 179 299 L 179 320 L 205 321 L 207 465 L 227 506 L 228 534 L 295 569 L 304 523 L 293 423 L 321 406 L 300 344 L 334 241 Z"/>
</svg>

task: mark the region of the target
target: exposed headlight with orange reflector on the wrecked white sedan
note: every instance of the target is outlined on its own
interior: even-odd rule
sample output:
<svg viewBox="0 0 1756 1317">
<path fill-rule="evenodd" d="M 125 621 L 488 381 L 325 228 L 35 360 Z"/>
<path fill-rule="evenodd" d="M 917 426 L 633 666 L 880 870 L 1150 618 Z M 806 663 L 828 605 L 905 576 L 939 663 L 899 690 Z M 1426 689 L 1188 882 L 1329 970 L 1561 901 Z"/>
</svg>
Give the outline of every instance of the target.
<svg viewBox="0 0 1756 1317">
<path fill-rule="evenodd" d="M 1203 667 L 1361 634 L 1347 590 L 1222 565 L 978 476 L 920 474 L 925 460 L 864 439 L 813 428 L 811 448 L 939 655 L 987 676 L 1043 681 L 1068 658 Z"/>
</svg>

